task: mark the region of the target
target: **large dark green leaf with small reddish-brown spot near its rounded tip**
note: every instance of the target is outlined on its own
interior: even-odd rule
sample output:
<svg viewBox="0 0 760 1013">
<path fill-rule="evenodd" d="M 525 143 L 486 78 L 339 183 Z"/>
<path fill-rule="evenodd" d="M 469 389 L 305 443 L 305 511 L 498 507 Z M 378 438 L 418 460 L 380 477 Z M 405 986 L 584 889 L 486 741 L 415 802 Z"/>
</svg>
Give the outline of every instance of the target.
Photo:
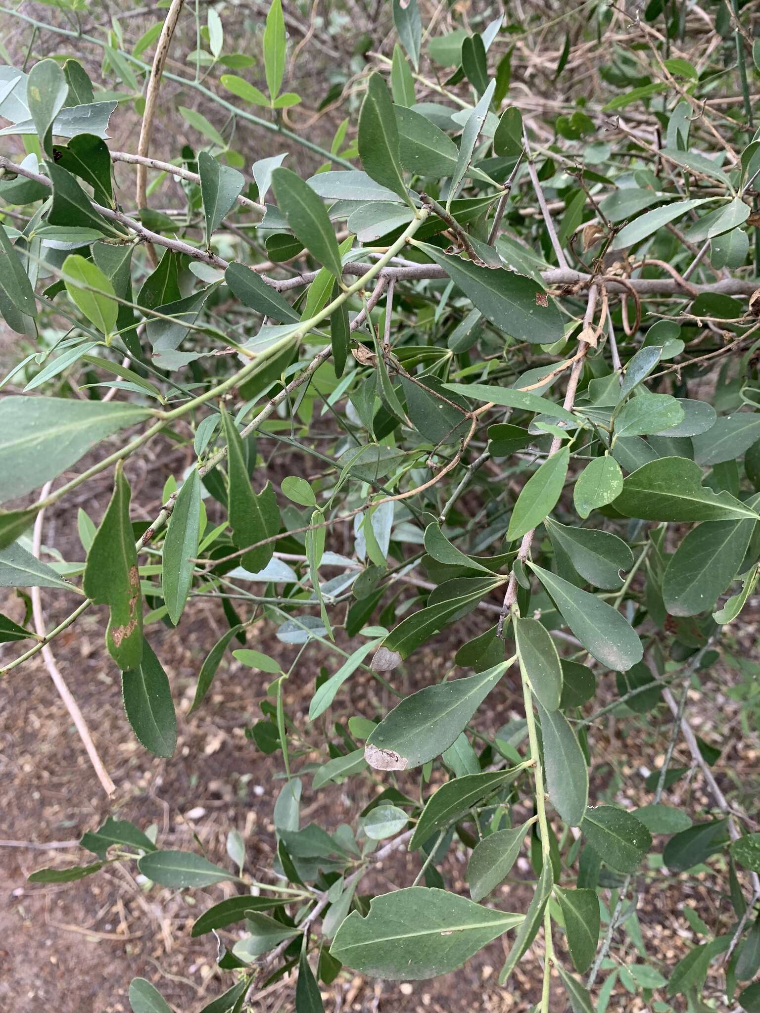
<svg viewBox="0 0 760 1013">
<path fill-rule="evenodd" d="M 477 307 L 486 320 L 499 330 L 521 341 L 537 344 L 551 344 L 562 336 L 562 318 L 559 310 L 552 299 L 547 299 L 546 305 L 542 305 L 543 287 L 533 279 L 504 267 L 496 269 L 481 267 L 472 260 L 463 260 L 455 254 L 444 253 L 429 243 L 415 242 L 414 245 L 439 267 L 443 267 L 472 305 Z M 541 297 L 540 302 L 537 296 Z M 513 393 L 519 394 L 520 391 Z M 519 404 L 510 405 L 510 407 L 519 406 Z M 574 421 L 577 420 L 574 418 Z"/>
</svg>

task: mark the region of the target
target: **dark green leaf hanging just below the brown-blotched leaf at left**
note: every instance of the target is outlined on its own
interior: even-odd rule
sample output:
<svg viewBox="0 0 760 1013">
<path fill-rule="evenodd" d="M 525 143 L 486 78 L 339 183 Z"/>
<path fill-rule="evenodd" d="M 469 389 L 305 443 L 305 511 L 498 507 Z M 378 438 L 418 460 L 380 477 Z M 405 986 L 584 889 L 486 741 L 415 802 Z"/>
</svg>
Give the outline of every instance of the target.
<svg viewBox="0 0 760 1013">
<path fill-rule="evenodd" d="M 153 648 L 145 641 L 142 661 L 122 673 L 124 709 L 138 741 L 156 757 L 173 756 L 176 715 L 171 687 Z"/>
</svg>

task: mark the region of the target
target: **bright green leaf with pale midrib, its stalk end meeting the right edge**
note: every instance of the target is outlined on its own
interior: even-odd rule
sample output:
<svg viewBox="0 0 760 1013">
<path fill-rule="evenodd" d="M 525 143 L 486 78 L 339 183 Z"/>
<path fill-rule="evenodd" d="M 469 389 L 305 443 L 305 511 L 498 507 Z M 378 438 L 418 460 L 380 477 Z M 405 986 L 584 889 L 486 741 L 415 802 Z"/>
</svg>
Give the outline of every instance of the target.
<svg viewBox="0 0 760 1013">
<path fill-rule="evenodd" d="M 713 426 L 714 428 L 714 426 Z M 702 485 L 702 469 L 685 457 L 663 457 L 637 468 L 613 501 L 623 517 L 642 521 L 740 521 L 758 519 L 731 495 Z"/>
</svg>

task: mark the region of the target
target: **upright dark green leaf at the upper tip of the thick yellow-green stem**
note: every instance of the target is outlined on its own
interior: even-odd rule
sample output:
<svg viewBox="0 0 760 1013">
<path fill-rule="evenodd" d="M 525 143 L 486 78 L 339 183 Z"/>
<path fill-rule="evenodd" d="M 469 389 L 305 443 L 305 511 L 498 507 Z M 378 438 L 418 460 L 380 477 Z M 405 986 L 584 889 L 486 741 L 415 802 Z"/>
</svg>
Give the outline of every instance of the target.
<svg viewBox="0 0 760 1013">
<path fill-rule="evenodd" d="M 382 186 L 413 207 L 403 177 L 398 148 L 398 128 L 388 87 L 374 72 L 359 113 L 359 157 L 365 171 Z"/>
</svg>

